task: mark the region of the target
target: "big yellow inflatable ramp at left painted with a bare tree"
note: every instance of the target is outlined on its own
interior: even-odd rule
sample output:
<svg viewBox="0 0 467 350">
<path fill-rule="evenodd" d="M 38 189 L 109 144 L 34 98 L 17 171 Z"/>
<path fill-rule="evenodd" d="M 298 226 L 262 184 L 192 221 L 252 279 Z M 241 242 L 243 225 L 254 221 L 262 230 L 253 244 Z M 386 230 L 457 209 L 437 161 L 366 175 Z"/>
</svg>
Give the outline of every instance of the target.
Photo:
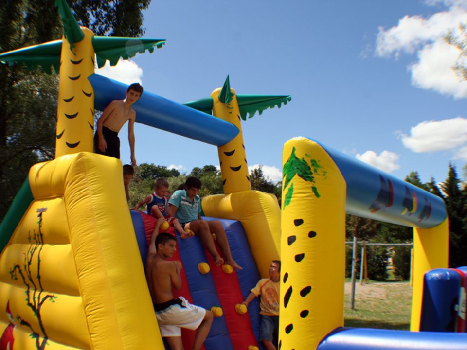
<svg viewBox="0 0 467 350">
<path fill-rule="evenodd" d="M 0 255 L 0 348 L 164 349 L 121 162 L 64 155 L 28 180 L 32 201 Z"/>
</svg>

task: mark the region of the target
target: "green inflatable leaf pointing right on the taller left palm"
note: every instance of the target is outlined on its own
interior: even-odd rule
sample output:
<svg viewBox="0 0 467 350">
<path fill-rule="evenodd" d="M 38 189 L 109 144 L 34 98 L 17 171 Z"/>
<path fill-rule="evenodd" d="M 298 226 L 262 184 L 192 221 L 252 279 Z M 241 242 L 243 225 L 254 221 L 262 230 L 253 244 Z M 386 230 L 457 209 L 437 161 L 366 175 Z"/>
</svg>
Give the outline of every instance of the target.
<svg viewBox="0 0 467 350">
<path fill-rule="evenodd" d="M 107 37 L 93 36 L 92 45 L 97 56 L 97 66 L 101 68 L 105 65 L 106 60 L 110 61 L 111 66 L 115 66 L 121 58 L 128 59 L 136 55 L 136 53 L 144 53 L 149 50 L 150 53 L 154 48 L 162 48 L 165 44 L 165 39 L 138 39 L 130 37 Z"/>
</svg>

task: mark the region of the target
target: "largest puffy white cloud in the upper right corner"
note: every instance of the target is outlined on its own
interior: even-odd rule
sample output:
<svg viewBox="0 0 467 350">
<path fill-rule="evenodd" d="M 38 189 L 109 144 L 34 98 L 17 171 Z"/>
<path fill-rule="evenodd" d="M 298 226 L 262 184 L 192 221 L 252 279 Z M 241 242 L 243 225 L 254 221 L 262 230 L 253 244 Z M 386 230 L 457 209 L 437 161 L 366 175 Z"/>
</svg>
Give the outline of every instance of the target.
<svg viewBox="0 0 467 350">
<path fill-rule="evenodd" d="M 467 97 L 467 83 L 461 82 L 452 70 L 460 51 L 444 42 L 449 29 L 467 21 L 467 1 L 429 0 L 426 3 L 431 6 L 442 4 L 447 9 L 430 18 L 405 16 L 392 28 L 380 27 L 376 53 L 395 58 L 401 53 L 416 53 L 417 61 L 408 67 L 413 85 L 456 98 Z"/>
</svg>

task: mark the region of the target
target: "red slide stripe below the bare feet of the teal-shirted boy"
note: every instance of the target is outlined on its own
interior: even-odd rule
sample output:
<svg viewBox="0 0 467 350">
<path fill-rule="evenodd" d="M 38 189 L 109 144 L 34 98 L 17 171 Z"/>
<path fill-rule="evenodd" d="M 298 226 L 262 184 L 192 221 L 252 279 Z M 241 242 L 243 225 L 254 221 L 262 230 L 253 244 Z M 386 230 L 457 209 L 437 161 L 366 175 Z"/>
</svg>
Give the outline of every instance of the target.
<svg viewBox="0 0 467 350">
<path fill-rule="evenodd" d="M 216 249 L 222 256 L 217 243 Z M 224 312 L 225 321 L 234 349 L 248 349 L 250 345 L 258 346 L 253 331 L 251 330 L 248 313 L 239 315 L 235 311 L 235 304 L 243 301 L 240 283 L 238 282 L 235 269 L 231 274 L 224 273 L 221 266 L 216 266 L 212 255 L 206 247 L 204 250 L 209 266 L 211 267 L 211 274 L 216 284 L 217 297 L 219 297 L 220 306 Z"/>
</svg>

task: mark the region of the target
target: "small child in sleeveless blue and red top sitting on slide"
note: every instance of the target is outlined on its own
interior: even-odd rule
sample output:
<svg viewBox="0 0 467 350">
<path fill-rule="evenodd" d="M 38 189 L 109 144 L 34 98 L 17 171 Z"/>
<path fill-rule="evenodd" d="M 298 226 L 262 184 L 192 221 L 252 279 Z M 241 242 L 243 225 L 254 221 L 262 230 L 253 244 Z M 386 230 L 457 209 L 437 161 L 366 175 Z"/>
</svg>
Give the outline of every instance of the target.
<svg viewBox="0 0 467 350">
<path fill-rule="evenodd" d="M 169 189 L 169 183 L 163 177 L 158 178 L 154 181 L 154 193 L 148 194 L 144 199 L 136 203 L 133 210 L 138 210 L 143 204 L 147 204 L 147 213 L 156 219 L 160 225 L 162 231 L 166 230 L 170 224 L 179 232 L 181 238 L 188 238 L 194 235 L 190 230 L 185 231 L 179 220 L 174 217 L 170 217 L 166 214 L 167 198 L 165 197 L 166 192 Z M 167 224 L 164 224 L 167 222 Z"/>
</svg>

